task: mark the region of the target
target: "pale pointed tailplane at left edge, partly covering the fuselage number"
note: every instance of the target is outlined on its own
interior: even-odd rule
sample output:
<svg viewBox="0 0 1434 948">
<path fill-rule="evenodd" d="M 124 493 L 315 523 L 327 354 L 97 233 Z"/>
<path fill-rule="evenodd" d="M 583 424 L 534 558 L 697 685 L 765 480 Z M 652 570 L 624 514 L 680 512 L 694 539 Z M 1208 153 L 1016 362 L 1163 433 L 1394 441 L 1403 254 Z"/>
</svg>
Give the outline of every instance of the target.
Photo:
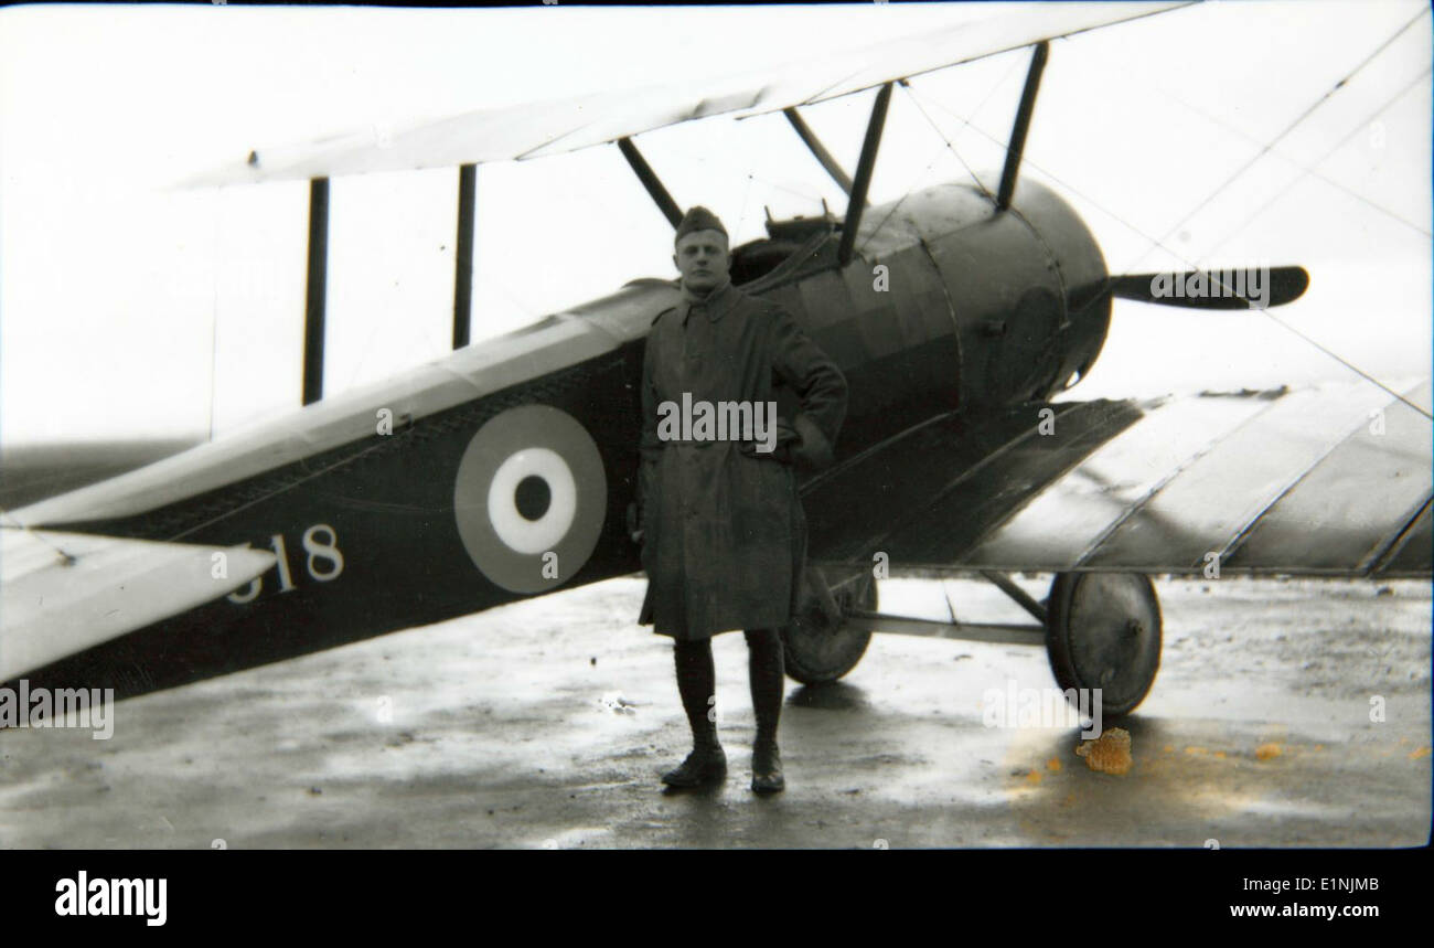
<svg viewBox="0 0 1434 948">
<path fill-rule="evenodd" d="M 247 546 L 3 529 L 0 681 L 217 599 L 272 565 L 274 554 Z"/>
</svg>

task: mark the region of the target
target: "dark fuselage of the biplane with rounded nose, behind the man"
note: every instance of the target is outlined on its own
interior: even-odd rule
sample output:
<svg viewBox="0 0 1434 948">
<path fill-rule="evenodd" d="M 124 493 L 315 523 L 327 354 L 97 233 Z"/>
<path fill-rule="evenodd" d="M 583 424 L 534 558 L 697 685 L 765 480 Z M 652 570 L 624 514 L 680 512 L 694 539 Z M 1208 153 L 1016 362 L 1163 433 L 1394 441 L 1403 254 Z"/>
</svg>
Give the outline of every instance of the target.
<svg viewBox="0 0 1434 948">
<path fill-rule="evenodd" d="M 936 414 L 1045 400 L 1100 353 L 1110 318 L 1104 260 L 1080 217 L 1035 182 L 1022 181 L 1004 212 L 975 188 L 915 192 L 895 208 L 868 209 L 846 267 L 836 267 L 835 244 L 833 234 L 800 265 L 783 264 L 743 288 L 786 307 L 846 374 L 837 465 Z M 218 459 L 222 442 L 194 449 L 189 468 L 202 476 L 175 485 L 184 496 L 171 501 L 87 508 L 79 496 L 86 488 L 32 508 L 70 511 L 52 522 L 32 518 L 32 526 L 248 544 L 272 551 L 277 564 L 232 595 L 27 677 L 135 694 L 637 572 L 625 515 L 638 463 L 642 340 L 675 300 L 671 283 L 635 281 L 503 337 L 495 351 L 512 354 L 498 364 L 455 353 L 449 360 L 469 373 L 473 397 L 445 394 L 427 412 L 400 406 L 390 412 L 391 433 L 381 419 L 373 423 L 384 409 L 373 396 L 354 403 L 353 436 L 324 429 L 317 452 L 280 452 L 280 463 L 261 470 L 231 465 L 232 479 L 218 460 L 205 466 L 202 452 Z M 607 341 L 594 343 L 591 327 Z M 581 344 L 564 341 L 564 331 L 579 328 Z M 493 343 L 473 349 L 485 346 Z M 512 414 L 526 406 L 554 412 Z M 569 499 L 561 476 L 548 485 L 549 509 L 532 522 L 508 509 L 512 485 L 499 479 L 506 495 L 490 489 L 525 450 L 513 463 L 546 476 L 554 462 L 535 449 L 574 475 L 566 521 L 545 521 Z M 539 549 L 529 536 L 551 542 Z"/>
</svg>

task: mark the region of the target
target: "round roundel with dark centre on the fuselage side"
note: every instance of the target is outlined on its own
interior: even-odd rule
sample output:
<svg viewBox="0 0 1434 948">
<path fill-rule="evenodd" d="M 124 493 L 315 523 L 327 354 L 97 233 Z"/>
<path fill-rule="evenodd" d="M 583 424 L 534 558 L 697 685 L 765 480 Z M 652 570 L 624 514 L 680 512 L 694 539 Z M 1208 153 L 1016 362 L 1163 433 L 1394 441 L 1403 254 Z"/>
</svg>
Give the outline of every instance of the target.
<svg viewBox="0 0 1434 948">
<path fill-rule="evenodd" d="M 543 592 L 576 574 L 598 545 L 607 506 L 592 436 L 548 404 L 489 419 L 469 440 L 453 486 L 463 549 L 509 592 Z"/>
</svg>

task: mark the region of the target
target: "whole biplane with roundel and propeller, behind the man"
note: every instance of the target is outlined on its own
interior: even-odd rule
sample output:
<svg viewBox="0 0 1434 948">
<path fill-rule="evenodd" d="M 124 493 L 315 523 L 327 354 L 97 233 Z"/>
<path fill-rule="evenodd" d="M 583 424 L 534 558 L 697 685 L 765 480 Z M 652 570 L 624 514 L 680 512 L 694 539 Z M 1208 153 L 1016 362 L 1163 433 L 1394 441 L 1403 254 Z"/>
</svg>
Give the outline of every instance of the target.
<svg viewBox="0 0 1434 948">
<path fill-rule="evenodd" d="M 1051 40 L 1177 6 L 1012 10 L 880 43 L 860 65 L 482 109 L 261 148 L 196 178 L 310 182 L 304 406 L 10 511 L 0 681 L 138 694 L 637 572 L 642 346 L 677 285 L 635 280 L 469 344 L 473 171 L 611 145 L 675 225 L 681 207 L 634 139 L 711 116 L 782 112 L 847 195 L 840 217 L 769 219 L 733 248 L 734 284 L 790 311 L 849 383 L 835 463 L 802 479 L 813 568 L 783 631 L 797 681 L 840 678 L 873 631 L 1020 643 L 1120 714 L 1159 668 L 1152 575 L 1428 578 L 1428 381 L 1067 394 L 1117 298 L 1249 308 L 1309 283 L 1293 264 L 1258 293 L 1235 271 L 1111 274 L 1067 199 L 1020 174 Z M 893 89 L 1024 47 L 999 174 L 869 205 Z M 800 110 L 860 93 L 872 109 L 849 174 Z M 328 181 L 440 166 L 460 176 L 455 351 L 324 399 Z M 1032 621 L 883 614 L 886 568 L 985 577 Z M 1053 574 L 1048 597 L 1017 572 Z"/>
</svg>

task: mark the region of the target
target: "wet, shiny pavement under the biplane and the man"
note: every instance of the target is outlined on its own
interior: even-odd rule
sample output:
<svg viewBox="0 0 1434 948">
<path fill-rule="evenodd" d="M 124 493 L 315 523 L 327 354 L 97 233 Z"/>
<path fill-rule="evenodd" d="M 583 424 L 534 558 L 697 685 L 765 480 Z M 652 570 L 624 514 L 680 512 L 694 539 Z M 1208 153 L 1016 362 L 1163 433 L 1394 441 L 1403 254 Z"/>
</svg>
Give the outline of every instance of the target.
<svg viewBox="0 0 1434 948">
<path fill-rule="evenodd" d="M 1123 776 L 1088 769 L 1068 724 L 985 726 L 988 690 L 1054 687 L 1044 648 L 875 635 L 840 683 L 789 683 L 789 789 L 757 797 L 731 634 L 714 645 L 727 782 L 664 793 L 687 724 L 625 578 L 123 701 L 110 740 L 0 731 L 0 848 L 1428 840 L 1430 584 L 1156 588 L 1160 676 L 1104 721 L 1130 731 Z M 982 582 L 882 584 L 906 615 L 946 618 L 948 597 L 968 621 L 1024 618 Z"/>
</svg>

